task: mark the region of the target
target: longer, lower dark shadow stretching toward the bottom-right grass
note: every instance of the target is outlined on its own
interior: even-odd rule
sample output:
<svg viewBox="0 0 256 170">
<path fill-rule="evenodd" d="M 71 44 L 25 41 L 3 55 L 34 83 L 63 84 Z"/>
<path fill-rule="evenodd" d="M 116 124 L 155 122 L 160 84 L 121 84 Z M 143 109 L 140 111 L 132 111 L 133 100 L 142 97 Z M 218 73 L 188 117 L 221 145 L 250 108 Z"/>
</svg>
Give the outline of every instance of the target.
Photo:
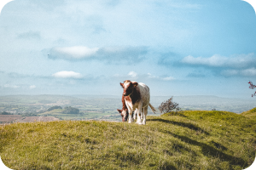
<svg viewBox="0 0 256 170">
<path fill-rule="evenodd" d="M 225 154 L 222 151 L 215 149 L 211 145 L 204 144 L 204 143 L 198 142 L 196 140 L 189 139 L 186 136 L 171 133 L 169 131 L 164 131 L 163 133 L 171 134 L 173 137 L 175 137 L 177 139 L 181 139 L 183 142 L 186 142 L 188 144 L 200 146 L 202 154 L 204 154 L 205 156 L 212 156 L 212 157 L 220 158 L 220 160 L 229 161 L 230 164 L 232 164 L 232 165 L 239 165 L 242 167 L 247 165 L 247 162 L 244 161 L 243 159 L 241 159 L 240 157 L 235 157 L 235 156 L 230 156 L 228 154 Z"/>
</svg>

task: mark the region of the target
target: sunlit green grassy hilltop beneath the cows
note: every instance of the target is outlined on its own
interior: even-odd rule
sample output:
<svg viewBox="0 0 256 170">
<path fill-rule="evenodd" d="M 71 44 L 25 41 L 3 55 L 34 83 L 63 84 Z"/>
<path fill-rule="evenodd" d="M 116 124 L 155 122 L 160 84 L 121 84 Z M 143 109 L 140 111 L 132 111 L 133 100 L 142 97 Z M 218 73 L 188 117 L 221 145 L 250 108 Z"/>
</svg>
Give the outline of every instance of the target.
<svg viewBox="0 0 256 170">
<path fill-rule="evenodd" d="M 0 126 L 0 157 L 10 169 L 245 169 L 256 157 L 253 111 L 170 112 L 145 126 L 13 123 Z"/>
</svg>

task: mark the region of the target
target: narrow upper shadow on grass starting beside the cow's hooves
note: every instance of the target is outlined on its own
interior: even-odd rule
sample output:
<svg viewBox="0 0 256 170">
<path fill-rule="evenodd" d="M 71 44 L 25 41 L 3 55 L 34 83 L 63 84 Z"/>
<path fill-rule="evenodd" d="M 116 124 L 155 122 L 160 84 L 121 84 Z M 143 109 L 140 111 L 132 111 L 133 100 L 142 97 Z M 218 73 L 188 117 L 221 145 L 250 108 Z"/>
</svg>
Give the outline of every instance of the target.
<svg viewBox="0 0 256 170">
<path fill-rule="evenodd" d="M 173 124 L 173 125 L 177 125 L 177 126 L 180 126 L 180 127 L 188 127 L 192 130 L 195 130 L 195 131 L 201 131 L 202 133 L 205 133 L 205 134 L 209 134 L 207 133 L 206 131 L 204 131 L 201 127 L 197 127 L 195 126 L 194 124 L 192 123 L 188 123 L 188 122 L 176 122 L 176 121 L 168 121 L 168 120 L 165 120 L 165 119 L 161 119 L 161 118 L 157 118 L 157 119 L 148 119 L 147 121 L 157 121 L 157 122 L 166 122 L 166 123 L 170 123 L 170 124 Z"/>
</svg>

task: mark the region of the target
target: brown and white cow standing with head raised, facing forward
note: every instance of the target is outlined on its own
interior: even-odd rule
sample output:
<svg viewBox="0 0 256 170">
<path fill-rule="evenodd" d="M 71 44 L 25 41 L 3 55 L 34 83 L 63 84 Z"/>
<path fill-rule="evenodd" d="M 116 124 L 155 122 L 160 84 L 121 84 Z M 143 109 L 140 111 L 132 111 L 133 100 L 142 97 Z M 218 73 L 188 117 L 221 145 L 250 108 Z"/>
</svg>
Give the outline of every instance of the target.
<svg viewBox="0 0 256 170">
<path fill-rule="evenodd" d="M 120 82 L 120 85 L 124 89 L 123 96 L 129 113 L 128 122 L 131 123 L 133 121 L 131 118 L 132 111 L 137 110 L 137 124 L 145 125 L 150 101 L 150 92 L 148 86 L 143 82 L 131 82 L 130 80 L 125 80 L 124 83 Z M 152 106 L 152 108 L 154 107 Z M 141 117 L 142 113 L 143 121 Z"/>
</svg>

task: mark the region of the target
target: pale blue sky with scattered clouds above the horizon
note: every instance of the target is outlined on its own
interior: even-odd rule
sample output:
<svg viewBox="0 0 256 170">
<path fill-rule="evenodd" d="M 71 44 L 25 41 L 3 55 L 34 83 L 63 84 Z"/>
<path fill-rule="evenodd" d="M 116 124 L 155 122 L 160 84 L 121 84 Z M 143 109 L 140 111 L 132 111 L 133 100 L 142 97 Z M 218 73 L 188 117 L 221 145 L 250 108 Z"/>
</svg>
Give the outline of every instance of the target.
<svg viewBox="0 0 256 170">
<path fill-rule="evenodd" d="M 0 95 L 252 99 L 256 13 L 243 0 L 13 0 L 0 12 Z"/>
</svg>

